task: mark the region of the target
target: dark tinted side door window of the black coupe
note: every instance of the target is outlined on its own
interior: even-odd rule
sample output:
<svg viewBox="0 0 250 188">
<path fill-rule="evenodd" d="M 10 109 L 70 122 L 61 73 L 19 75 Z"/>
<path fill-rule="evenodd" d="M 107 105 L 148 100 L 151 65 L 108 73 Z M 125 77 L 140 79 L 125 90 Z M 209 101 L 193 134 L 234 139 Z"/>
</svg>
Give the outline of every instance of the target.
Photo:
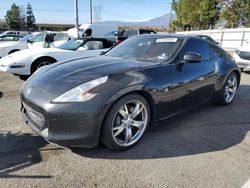
<svg viewBox="0 0 250 188">
<path fill-rule="evenodd" d="M 188 39 L 185 44 L 184 50 L 182 51 L 182 56 L 184 56 L 187 52 L 199 53 L 202 55 L 203 60 L 209 60 L 211 58 L 208 43 L 200 39 Z"/>
</svg>

